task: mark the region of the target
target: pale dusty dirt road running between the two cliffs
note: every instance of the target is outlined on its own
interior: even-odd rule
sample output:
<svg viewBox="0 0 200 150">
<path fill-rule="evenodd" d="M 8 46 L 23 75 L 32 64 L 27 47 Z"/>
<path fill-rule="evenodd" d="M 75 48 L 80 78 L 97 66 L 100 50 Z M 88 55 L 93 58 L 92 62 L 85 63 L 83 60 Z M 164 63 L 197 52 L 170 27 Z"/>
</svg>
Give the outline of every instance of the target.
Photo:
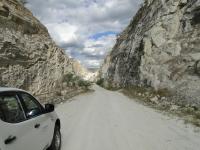
<svg viewBox="0 0 200 150">
<path fill-rule="evenodd" d="M 57 107 L 62 150 L 199 150 L 200 132 L 140 105 L 118 92 L 95 86 Z"/>
</svg>

